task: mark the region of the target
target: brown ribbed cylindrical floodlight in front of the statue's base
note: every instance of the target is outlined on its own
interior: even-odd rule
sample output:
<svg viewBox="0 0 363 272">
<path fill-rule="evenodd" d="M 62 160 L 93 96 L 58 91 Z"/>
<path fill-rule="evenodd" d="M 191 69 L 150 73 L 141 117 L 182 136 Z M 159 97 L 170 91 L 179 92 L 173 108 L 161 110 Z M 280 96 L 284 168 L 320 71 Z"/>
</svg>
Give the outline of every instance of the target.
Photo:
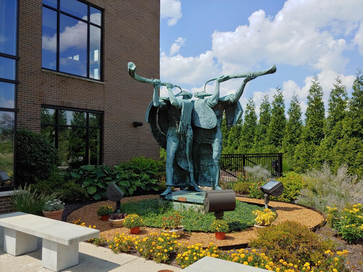
<svg viewBox="0 0 363 272">
<path fill-rule="evenodd" d="M 236 209 L 236 194 L 233 190 L 205 191 L 204 211 L 213 213 L 216 219 L 223 219 L 224 211 Z"/>
</svg>

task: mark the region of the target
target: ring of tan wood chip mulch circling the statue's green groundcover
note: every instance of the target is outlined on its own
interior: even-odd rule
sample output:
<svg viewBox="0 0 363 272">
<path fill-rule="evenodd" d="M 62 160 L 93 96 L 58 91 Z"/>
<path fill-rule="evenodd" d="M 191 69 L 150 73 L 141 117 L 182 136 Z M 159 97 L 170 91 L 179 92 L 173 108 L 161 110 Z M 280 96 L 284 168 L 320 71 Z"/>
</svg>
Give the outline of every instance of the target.
<svg viewBox="0 0 363 272">
<path fill-rule="evenodd" d="M 152 198 L 159 198 L 159 195 L 140 195 L 134 197 L 125 197 L 121 200 L 121 203 L 136 202 Z M 263 200 L 261 199 L 252 199 L 245 197 L 237 197 L 237 199 L 245 202 L 260 204 L 263 203 Z M 108 221 L 101 221 L 101 218 L 97 215 L 98 207 L 101 205 L 110 205 L 116 208 L 115 202 L 111 201 L 91 203 L 71 213 L 67 218 L 67 222 L 72 223 L 78 219 L 81 219 L 81 222 L 85 222 L 86 226 L 95 225 L 96 228 L 103 235 L 105 235 L 106 239 L 113 239 L 116 232 L 128 234 L 130 231 L 127 228 L 114 228 L 112 224 Z M 278 214 L 278 217 L 273 224 L 278 224 L 290 220 L 299 222 L 309 228 L 312 228 L 324 220 L 324 218 L 319 213 L 295 204 L 270 201 L 269 205 L 272 206 Z M 142 238 L 148 235 L 150 232 L 160 232 L 160 228 L 142 227 L 139 236 Z M 231 232 L 227 234 L 225 240 L 217 240 L 214 233 L 204 232 L 184 232 L 179 240 L 181 242 L 188 242 L 189 244 L 201 243 L 203 244 L 203 246 L 207 246 L 209 242 L 213 242 L 217 246 L 230 246 L 248 243 L 256 236 L 257 228 L 250 227 L 245 231 Z"/>
</svg>

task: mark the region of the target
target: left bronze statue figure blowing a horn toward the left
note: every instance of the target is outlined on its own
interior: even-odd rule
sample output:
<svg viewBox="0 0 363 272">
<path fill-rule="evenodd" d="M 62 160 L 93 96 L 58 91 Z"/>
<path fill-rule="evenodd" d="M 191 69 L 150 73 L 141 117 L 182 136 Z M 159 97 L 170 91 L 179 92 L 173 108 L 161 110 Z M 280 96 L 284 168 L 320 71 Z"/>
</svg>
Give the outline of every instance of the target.
<svg viewBox="0 0 363 272">
<path fill-rule="evenodd" d="M 183 91 L 170 82 L 159 79 L 147 79 L 136 75 L 136 66 L 129 62 L 129 74 L 140 82 L 154 85 L 153 101 L 146 111 L 146 121 L 158 143 L 166 149 L 166 185 L 161 195 L 171 193 L 171 186 L 188 187 L 188 190 L 201 191 L 194 181 L 192 162 L 193 131 L 191 116 L 193 104 L 188 100 L 193 94 Z M 169 98 L 159 97 L 160 85 L 168 88 Z M 181 92 L 174 95 L 172 88 L 178 87 Z M 182 96 L 182 99 L 176 97 Z M 156 123 L 158 122 L 158 124 Z"/>
</svg>

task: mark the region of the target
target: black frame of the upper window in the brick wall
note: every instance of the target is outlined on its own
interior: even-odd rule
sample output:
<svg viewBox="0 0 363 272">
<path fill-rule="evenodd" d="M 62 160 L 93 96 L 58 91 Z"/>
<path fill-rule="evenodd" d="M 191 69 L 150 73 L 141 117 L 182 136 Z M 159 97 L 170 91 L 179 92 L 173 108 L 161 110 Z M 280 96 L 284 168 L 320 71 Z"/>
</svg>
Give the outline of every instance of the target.
<svg viewBox="0 0 363 272">
<path fill-rule="evenodd" d="M 61 6 L 60 1 L 61 0 L 57 0 L 57 8 L 54 8 L 54 7 L 49 6 L 47 4 L 42 4 L 43 7 L 49 8 L 49 9 L 57 12 L 57 60 L 56 60 L 57 61 L 57 69 L 53 70 L 53 69 L 49 69 L 49 68 L 45 68 L 45 67 L 42 67 L 42 69 L 103 82 L 103 13 L 104 13 L 105 9 L 97 7 L 96 5 L 93 5 L 93 4 L 91 4 L 89 2 L 86 2 L 86 1 L 83 1 L 83 0 L 77 0 L 79 2 L 82 2 L 82 3 L 86 4 L 86 5 L 88 5 L 88 7 L 87 7 L 88 20 L 83 20 L 82 18 L 79 18 L 77 16 L 74 16 L 72 14 L 69 14 L 67 12 L 62 11 L 61 7 L 60 7 Z M 97 24 L 94 24 L 94 23 L 90 22 L 90 19 L 91 19 L 90 18 L 90 8 L 91 7 L 99 9 L 101 11 L 101 25 L 97 25 Z M 59 26 L 60 26 L 60 17 L 61 17 L 60 14 L 67 15 L 69 17 L 72 17 L 72 18 L 74 18 L 76 20 L 85 22 L 87 24 L 87 77 L 83 77 L 81 75 L 71 74 L 71 73 L 67 73 L 67 72 L 63 72 L 63 71 L 59 70 L 59 57 L 60 57 L 60 51 L 59 51 L 59 43 L 60 43 L 60 30 L 59 30 L 59 28 L 60 27 Z M 101 28 L 101 53 L 100 53 L 100 62 L 101 62 L 101 64 L 100 64 L 100 71 L 99 71 L 99 79 L 95 79 L 95 78 L 90 77 L 90 26 L 91 25 L 96 26 L 98 28 Z M 42 57 L 43 57 L 43 54 L 42 54 Z"/>
</svg>

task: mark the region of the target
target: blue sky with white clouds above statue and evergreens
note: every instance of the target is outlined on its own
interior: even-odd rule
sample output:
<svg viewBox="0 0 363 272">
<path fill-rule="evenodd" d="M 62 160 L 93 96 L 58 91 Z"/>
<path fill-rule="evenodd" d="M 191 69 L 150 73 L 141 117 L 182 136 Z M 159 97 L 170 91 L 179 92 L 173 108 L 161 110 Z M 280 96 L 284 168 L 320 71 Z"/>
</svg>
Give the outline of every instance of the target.
<svg viewBox="0 0 363 272">
<path fill-rule="evenodd" d="M 362 0 L 161 0 L 160 79 L 201 91 L 208 79 L 248 71 L 277 71 L 247 83 L 242 107 L 253 97 L 256 113 L 265 93 L 282 88 L 287 111 L 295 92 L 306 111 L 311 78 L 330 89 L 340 75 L 348 95 L 357 68 L 363 70 Z M 242 79 L 220 84 L 233 94 Z M 215 83 L 207 85 L 213 93 Z M 175 93 L 177 89 L 175 89 Z M 166 87 L 160 90 L 167 96 Z"/>
</svg>

